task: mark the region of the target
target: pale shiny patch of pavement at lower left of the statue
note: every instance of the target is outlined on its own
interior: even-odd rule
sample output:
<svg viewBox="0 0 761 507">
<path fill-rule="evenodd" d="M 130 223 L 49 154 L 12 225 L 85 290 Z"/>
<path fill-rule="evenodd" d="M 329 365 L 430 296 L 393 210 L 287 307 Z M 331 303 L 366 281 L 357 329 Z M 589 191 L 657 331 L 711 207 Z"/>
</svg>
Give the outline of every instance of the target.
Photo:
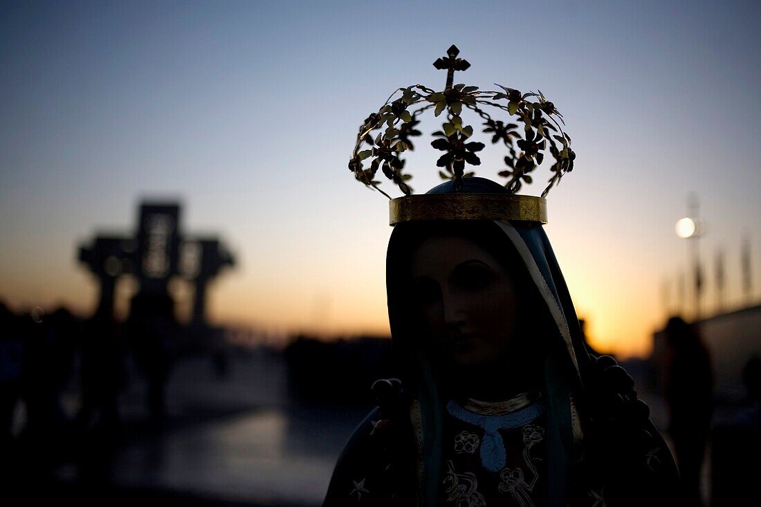
<svg viewBox="0 0 761 507">
<path fill-rule="evenodd" d="M 319 505 L 342 442 L 324 426 L 329 448 L 298 452 L 315 450 L 309 435 L 289 431 L 301 426 L 288 422 L 298 416 L 323 426 L 307 413 L 260 410 L 137 442 L 117 454 L 113 480 L 234 501 Z"/>
</svg>

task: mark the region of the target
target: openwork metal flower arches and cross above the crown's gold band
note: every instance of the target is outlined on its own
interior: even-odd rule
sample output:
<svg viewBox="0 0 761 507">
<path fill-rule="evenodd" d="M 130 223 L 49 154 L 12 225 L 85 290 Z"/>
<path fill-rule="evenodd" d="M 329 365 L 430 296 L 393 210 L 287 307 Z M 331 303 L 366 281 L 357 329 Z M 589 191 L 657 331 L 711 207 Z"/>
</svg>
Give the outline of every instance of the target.
<svg viewBox="0 0 761 507">
<path fill-rule="evenodd" d="M 562 115 L 555 104 L 544 97 L 541 91 L 521 93 L 514 88 L 496 85 L 501 91 L 481 91 L 476 86 L 453 85 L 454 72 L 470 67 L 465 59 L 457 58 L 457 46 L 447 49 L 447 56 L 434 62 L 436 69 L 447 70 L 447 85 L 443 91 L 435 91 L 423 85 L 398 88 L 386 103 L 371 113 L 359 127 L 357 141 L 349 169 L 355 178 L 368 187 L 380 190 L 377 172 L 393 181 L 409 196 L 412 188 L 409 180 L 412 174 L 403 172 L 405 151 L 412 151 L 413 137 L 421 136 L 417 129 L 419 116 L 433 110 L 435 116 L 445 113 L 441 130 L 433 132 L 431 146 L 444 153 L 436 162 L 441 167 L 439 175 L 444 180 L 454 180 L 454 188 L 462 185 L 463 177 L 473 176 L 466 172 L 467 165 L 480 165 L 477 155 L 485 148 L 482 142 L 474 142 L 474 127 L 463 120 L 463 110 L 471 110 L 480 117 L 482 132 L 491 136 L 495 145 L 505 145 L 505 169 L 498 174 L 508 178 L 505 183 L 511 194 L 521 190 L 523 183 L 532 183 L 531 174 L 545 161 L 546 152 L 554 162 L 550 167 L 552 177 L 544 189 L 545 197 L 565 173 L 573 170 L 576 155 L 571 149 L 571 138 L 562 126 Z M 491 114 L 490 114 L 491 112 Z M 493 115 L 493 116 L 492 116 Z M 376 133 L 377 132 L 377 133 Z M 365 162 L 369 161 L 369 167 Z"/>
</svg>

